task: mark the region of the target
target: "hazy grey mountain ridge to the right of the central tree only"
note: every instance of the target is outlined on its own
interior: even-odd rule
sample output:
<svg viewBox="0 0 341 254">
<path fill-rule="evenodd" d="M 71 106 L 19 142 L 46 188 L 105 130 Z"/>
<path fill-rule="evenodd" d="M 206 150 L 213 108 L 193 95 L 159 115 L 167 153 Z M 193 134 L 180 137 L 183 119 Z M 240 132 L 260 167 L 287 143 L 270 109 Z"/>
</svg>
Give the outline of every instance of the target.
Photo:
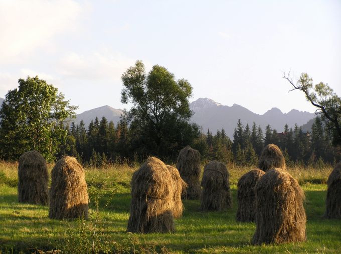
<svg viewBox="0 0 341 254">
<path fill-rule="evenodd" d="M 198 123 L 207 132 L 208 128 L 215 133 L 217 129 L 224 127 L 230 138 L 233 137 L 234 129 L 238 119 L 241 119 L 243 125 L 249 123 L 250 128 L 253 121 L 264 130 L 267 124 L 275 128 L 278 132 L 284 130 L 284 124 L 294 126 L 297 123 L 301 126 L 314 117 L 313 113 L 292 109 L 288 113 L 283 113 L 277 107 L 273 107 L 264 114 L 256 114 L 238 104 L 232 106 L 222 105 L 210 98 L 199 98 L 190 104 L 194 115 L 192 122 Z"/>
</svg>

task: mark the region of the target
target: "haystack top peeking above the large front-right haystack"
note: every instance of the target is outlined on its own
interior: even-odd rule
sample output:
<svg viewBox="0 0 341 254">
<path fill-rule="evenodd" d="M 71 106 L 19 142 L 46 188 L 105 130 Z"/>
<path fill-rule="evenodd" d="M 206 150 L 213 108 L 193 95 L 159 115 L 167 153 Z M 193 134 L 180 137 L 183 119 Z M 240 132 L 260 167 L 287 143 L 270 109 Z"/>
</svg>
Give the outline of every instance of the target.
<svg viewBox="0 0 341 254">
<path fill-rule="evenodd" d="M 281 149 L 275 144 L 266 145 L 260 155 L 258 168 L 264 172 L 272 168 L 282 168 L 286 170 L 285 158 Z"/>
</svg>

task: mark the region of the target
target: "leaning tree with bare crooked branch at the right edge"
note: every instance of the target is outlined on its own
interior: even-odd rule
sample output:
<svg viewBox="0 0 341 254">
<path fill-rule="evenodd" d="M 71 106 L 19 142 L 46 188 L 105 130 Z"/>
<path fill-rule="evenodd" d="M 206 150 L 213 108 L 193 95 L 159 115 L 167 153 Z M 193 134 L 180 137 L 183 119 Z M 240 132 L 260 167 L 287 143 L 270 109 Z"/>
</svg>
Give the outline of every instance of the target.
<svg viewBox="0 0 341 254">
<path fill-rule="evenodd" d="M 292 90 L 301 90 L 305 98 L 317 109 L 315 113 L 321 115 L 322 120 L 333 130 L 333 144 L 341 144 L 341 98 L 326 83 L 319 82 L 313 86 L 312 78 L 302 73 L 296 84 L 289 77 L 284 78 L 294 87 Z"/>
</svg>

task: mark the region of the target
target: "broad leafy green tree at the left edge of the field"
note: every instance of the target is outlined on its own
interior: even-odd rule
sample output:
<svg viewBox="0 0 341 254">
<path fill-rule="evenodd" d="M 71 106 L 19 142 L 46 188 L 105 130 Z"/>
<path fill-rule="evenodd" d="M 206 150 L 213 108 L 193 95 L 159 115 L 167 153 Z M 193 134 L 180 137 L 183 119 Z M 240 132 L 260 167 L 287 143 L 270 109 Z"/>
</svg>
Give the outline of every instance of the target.
<svg viewBox="0 0 341 254">
<path fill-rule="evenodd" d="M 64 121 L 74 117 L 77 107 L 38 76 L 18 82 L 0 109 L 0 154 L 17 160 L 23 152 L 35 149 L 51 161 L 67 135 Z"/>
</svg>

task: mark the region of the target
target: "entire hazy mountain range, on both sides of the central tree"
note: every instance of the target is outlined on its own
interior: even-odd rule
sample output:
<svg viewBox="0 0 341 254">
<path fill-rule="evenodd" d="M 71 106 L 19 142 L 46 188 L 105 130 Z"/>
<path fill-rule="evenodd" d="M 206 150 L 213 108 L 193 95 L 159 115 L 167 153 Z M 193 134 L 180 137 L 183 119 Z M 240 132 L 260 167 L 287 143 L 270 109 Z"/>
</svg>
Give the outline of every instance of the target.
<svg viewBox="0 0 341 254">
<path fill-rule="evenodd" d="M 0 103 L 3 100 L 3 98 L 0 98 Z M 191 121 L 198 123 L 204 132 L 210 129 L 212 133 L 215 133 L 218 129 L 224 127 L 230 138 L 233 137 L 233 131 L 237 126 L 238 119 L 241 119 L 244 126 L 248 123 L 250 128 L 253 122 L 255 122 L 263 130 L 267 124 L 270 124 L 272 128 L 282 132 L 286 123 L 289 127 L 294 127 L 295 123 L 297 123 L 298 126 L 303 125 L 303 130 L 310 130 L 313 122 L 312 119 L 314 118 L 314 114 L 307 111 L 292 109 L 287 113 L 283 113 L 276 107 L 271 108 L 264 114 L 257 114 L 241 105 L 233 104 L 232 106 L 227 106 L 210 98 L 199 98 L 190 104 L 190 108 L 194 112 Z M 112 120 L 116 124 L 122 112 L 122 109 L 115 109 L 105 105 L 77 114 L 73 120 L 76 124 L 83 120 L 87 128 L 91 119 L 95 119 L 97 116 L 100 120 L 105 116 L 108 121 Z"/>
</svg>

